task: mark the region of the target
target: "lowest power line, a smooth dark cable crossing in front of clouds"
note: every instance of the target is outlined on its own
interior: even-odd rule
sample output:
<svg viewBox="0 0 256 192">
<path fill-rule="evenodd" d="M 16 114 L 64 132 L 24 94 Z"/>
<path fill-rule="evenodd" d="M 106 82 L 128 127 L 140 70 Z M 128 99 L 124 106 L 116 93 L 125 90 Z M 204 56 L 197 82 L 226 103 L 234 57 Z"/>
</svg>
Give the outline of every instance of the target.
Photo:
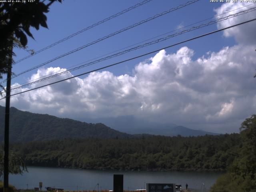
<svg viewBox="0 0 256 192">
<path fill-rule="evenodd" d="M 104 67 L 101 67 L 101 68 L 98 68 L 98 69 L 95 69 L 95 70 L 92 70 L 92 71 L 89 71 L 89 72 L 84 72 L 82 74 L 79 74 L 79 75 L 76 75 L 76 76 L 72 76 L 70 78 L 66 78 L 66 79 L 63 79 L 63 80 L 59 80 L 59 81 L 56 81 L 56 82 L 52 82 L 52 83 L 49 83 L 49 84 L 46 84 L 46 85 L 43 85 L 43 86 L 39 86 L 39 87 L 36 87 L 36 88 L 32 88 L 30 90 L 26 90 L 26 91 L 22 91 L 22 92 L 19 92 L 19 93 L 16 93 L 16 94 L 12 94 L 10 96 L 14 96 L 14 95 L 18 95 L 18 94 L 22 94 L 22 93 L 25 93 L 25 92 L 29 92 L 29 91 L 32 91 L 32 90 L 36 90 L 36 89 L 39 89 L 39 88 L 43 88 L 45 86 L 49 86 L 49 85 L 52 85 L 52 84 L 56 84 L 56 83 L 59 83 L 59 82 L 63 82 L 63 81 L 66 81 L 66 80 L 70 80 L 72 78 L 76 78 L 76 77 L 79 77 L 79 76 L 82 76 L 82 75 L 86 75 L 86 74 L 89 74 L 89 73 L 92 73 L 92 72 L 95 72 L 95 71 L 98 71 L 98 70 L 102 70 L 102 69 L 105 69 L 105 68 L 108 68 L 108 67 L 111 67 L 111 66 L 114 66 L 114 65 L 117 65 L 117 64 L 121 64 L 121 63 L 124 63 L 124 62 L 127 62 L 127 61 L 130 61 L 130 60 L 134 60 L 136 58 L 140 58 L 140 57 L 143 57 L 143 56 L 146 56 L 146 55 L 149 55 L 149 54 L 152 54 L 152 53 L 155 53 L 155 52 L 158 52 L 160 50 L 163 50 L 163 49 L 167 49 L 167 48 L 170 48 L 170 47 L 173 47 L 173 46 L 176 46 L 176 45 L 179 45 L 179 44 L 182 44 L 182 43 L 185 43 L 185 42 L 188 42 L 188 41 L 191 41 L 191 40 L 195 40 L 195 39 L 198 39 L 198 38 L 202 38 L 204 36 L 208 36 L 210 34 L 214 34 L 216 32 L 220 32 L 220 31 L 223 31 L 223 30 L 226 30 L 226 29 L 229 29 L 229 28 L 232 28 L 232 27 L 235 27 L 235 26 L 239 26 L 239 25 L 242 25 L 242 24 L 246 24 L 248 22 L 252 22 L 252 21 L 255 21 L 256 18 L 252 19 L 252 20 L 248 20 L 248 21 L 245 21 L 245 22 L 241 22 L 239 24 L 235 24 L 235 25 L 232 25 L 232 26 L 229 26 L 229 27 L 226 27 L 226 28 L 222 28 L 222 29 L 219 29 L 219 30 L 215 30 L 215 31 L 212 31 L 212 32 L 209 32 L 209 33 L 206 33 L 206 34 L 203 34 L 203 35 L 200 35 L 200 36 L 196 36 L 194 38 L 190 38 L 188 40 L 184 40 L 182 42 L 178 42 L 176 44 L 172 44 L 170 46 L 167 46 L 167 47 L 163 47 L 163 48 L 160 48 L 158 50 L 154 50 L 152 52 L 148 52 L 146 54 L 142 54 L 142 55 L 139 55 L 139 56 L 136 56 L 136 57 L 133 57 L 133 58 L 130 58 L 130 59 L 127 59 L 127 60 L 123 60 L 123 61 L 120 61 L 120 62 L 117 62 L 117 63 L 114 63 L 114 64 L 110 64 L 108 66 L 104 66 Z M 6 97 L 4 97 L 6 98 Z M 4 98 L 1 98 L 0 100 L 4 99 Z"/>
</svg>

